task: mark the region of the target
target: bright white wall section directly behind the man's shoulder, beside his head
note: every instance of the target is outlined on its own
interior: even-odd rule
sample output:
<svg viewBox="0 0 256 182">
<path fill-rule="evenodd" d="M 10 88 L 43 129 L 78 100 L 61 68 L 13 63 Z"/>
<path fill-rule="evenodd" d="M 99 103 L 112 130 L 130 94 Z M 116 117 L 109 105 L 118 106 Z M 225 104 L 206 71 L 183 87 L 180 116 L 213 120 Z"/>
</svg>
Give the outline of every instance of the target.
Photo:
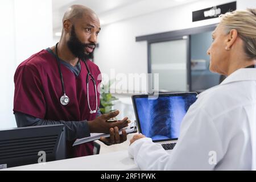
<svg viewBox="0 0 256 182">
<path fill-rule="evenodd" d="M 15 0 L 16 63 L 52 46 L 52 0 Z"/>
</svg>

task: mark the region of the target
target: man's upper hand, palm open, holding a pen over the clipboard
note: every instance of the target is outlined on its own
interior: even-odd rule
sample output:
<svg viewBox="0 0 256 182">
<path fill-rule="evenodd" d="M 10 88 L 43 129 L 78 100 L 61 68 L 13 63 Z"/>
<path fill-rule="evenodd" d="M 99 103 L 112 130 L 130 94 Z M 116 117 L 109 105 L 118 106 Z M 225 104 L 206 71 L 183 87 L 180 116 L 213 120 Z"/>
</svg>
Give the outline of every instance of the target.
<svg viewBox="0 0 256 182">
<path fill-rule="evenodd" d="M 121 121 L 107 122 L 108 119 L 114 118 L 118 114 L 119 114 L 119 111 L 117 110 L 117 111 L 114 111 L 113 113 L 102 114 L 100 117 L 97 117 L 96 119 L 94 119 L 92 121 L 88 121 L 90 133 L 110 133 L 110 137 L 111 137 L 110 129 L 114 130 L 115 127 L 118 127 L 118 129 L 127 127 L 128 122 L 129 122 L 127 117 L 123 118 Z M 113 132 L 112 132 L 112 134 L 113 134 Z M 112 136 L 112 138 L 113 138 L 113 136 Z"/>
</svg>

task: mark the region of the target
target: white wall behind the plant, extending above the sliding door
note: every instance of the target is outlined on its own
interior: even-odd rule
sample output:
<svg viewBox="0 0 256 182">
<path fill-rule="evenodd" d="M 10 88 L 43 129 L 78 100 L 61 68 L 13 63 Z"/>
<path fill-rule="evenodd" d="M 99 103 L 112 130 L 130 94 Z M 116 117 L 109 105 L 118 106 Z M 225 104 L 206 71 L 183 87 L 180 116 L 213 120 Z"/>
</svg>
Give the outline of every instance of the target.
<svg viewBox="0 0 256 182">
<path fill-rule="evenodd" d="M 106 74 L 110 69 L 115 73 L 147 73 L 147 43 L 135 42 L 136 36 L 218 23 L 218 18 L 192 22 L 192 11 L 228 2 L 233 0 L 197 1 L 102 26 L 95 63 Z M 237 1 L 237 9 L 246 7 L 256 7 L 256 1 Z"/>
</svg>

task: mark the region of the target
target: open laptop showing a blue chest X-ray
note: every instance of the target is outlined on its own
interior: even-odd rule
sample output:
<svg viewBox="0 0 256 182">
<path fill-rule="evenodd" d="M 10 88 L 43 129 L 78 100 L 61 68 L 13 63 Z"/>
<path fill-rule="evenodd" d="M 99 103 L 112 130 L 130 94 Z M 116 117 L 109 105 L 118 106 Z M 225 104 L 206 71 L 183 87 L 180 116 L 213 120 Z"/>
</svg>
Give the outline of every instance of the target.
<svg viewBox="0 0 256 182">
<path fill-rule="evenodd" d="M 139 133 L 162 144 L 165 150 L 172 150 L 179 138 L 181 121 L 196 96 L 196 92 L 132 96 Z"/>
</svg>

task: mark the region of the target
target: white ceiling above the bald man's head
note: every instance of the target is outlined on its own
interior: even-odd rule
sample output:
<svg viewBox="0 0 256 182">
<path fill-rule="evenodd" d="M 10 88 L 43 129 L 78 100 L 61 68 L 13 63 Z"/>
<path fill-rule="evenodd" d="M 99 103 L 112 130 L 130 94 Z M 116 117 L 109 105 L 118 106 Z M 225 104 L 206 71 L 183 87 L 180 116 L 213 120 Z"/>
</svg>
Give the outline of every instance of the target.
<svg viewBox="0 0 256 182">
<path fill-rule="evenodd" d="M 71 5 L 94 10 L 104 25 L 193 1 L 198 0 L 52 0 L 53 32 L 61 31 L 61 19 Z"/>
</svg>

